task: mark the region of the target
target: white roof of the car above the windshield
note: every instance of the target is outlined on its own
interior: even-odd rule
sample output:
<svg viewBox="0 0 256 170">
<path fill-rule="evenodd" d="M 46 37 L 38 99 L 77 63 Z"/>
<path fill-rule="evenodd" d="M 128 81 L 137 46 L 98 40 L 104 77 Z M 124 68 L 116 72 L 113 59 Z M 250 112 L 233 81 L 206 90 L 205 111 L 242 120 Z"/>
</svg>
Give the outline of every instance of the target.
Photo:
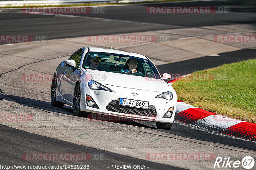
<svg viewBox="0 0 256 170">
<path fill-rule="evenodd" d="M 138 57 L 138 58 L 141 58 L 141 59 L 148 60 L 148 58 L 146 56 L 141 55 L 141 54 L 137 54 L 137 53 L 125 52 L 125 51 L 113 50 L 113 49 L 105 49 L 105 48 L 99 48 L 99 47 L 88 47 L 88 48 L 89 48 L 89 51 L 92 51 L 92 52 L 123 54 L 123 55 L 130 55 L 130 56 L 133 56 L 133 57 Z"/>
</svg>

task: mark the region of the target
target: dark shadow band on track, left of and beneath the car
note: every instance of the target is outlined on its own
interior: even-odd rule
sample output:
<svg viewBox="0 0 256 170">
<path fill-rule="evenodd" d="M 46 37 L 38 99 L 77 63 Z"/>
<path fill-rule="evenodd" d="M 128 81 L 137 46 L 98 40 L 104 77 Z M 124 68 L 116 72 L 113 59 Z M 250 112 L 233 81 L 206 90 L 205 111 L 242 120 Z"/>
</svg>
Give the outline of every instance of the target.
<svg viewBox="0 0 256 170">
<path fill-rule="evenodd" d="M 15 103 L 18 103 L 23 106 L 27 107 L 33 107 L 42 111 L 51 111 L 51 112 L 57 112 L 57 113 L 62 113 L 66 115 L 74 115 L 73 110 L 71 106 L 64 105 L 63 108 L 57 108 L 53 107 L 49 102 L 47 101 L 42 101 L 38 99 L 31 99 L 27 97 L 21 97 L 21 96 L 13 96 L 13 95 L 0 95 L 0 100 L 7 100 L 7 101 L 12 101 Z M 27 109 L 25 108 L 24 111 Z M 23 111 L 23 110 L 18 110 L 18 111 Z M 96 115 L 96 116 L 95 116 Z M 84 112 L 82 117 L 92 119 L 93 121 L 108 121 L 108 122 L 113 122 L 113 123 L 118 123 L 118 124 L 127 124 L 127 125 L 132 125 L 132 126 L 138 126 L 138 127 L 144 127 L 144 128 L 151 128 L 151 129 L 156 129 L 156 127 L 151 127 L 147 126 L 145 124 L 140 124 L 138 122 L 135 122 L 132 119 L 129 118 L 120 118 L 120 117 L 114 117 L 114 116 L 107 116 L 107 115 L 100 115 L 100 114 L 95 114 L 95 113 L 88 113 Z M 145 121 L 141 121 L 145 122 Z"/>
</svg>

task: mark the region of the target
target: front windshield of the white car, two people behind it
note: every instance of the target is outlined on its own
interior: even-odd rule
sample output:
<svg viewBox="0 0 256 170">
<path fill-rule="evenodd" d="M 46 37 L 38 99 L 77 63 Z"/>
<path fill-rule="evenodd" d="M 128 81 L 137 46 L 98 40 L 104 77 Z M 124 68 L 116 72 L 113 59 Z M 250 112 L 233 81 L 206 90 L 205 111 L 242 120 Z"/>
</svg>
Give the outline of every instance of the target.
<svg viewBox="0 0 256 170">
<path fill-rule="evenodd" d="M 151 61 L 122 54 L 88 52 L 83 68 L 161 79 Z M 132 73 L 132 69 L 137 72 Z"/>
</svg>

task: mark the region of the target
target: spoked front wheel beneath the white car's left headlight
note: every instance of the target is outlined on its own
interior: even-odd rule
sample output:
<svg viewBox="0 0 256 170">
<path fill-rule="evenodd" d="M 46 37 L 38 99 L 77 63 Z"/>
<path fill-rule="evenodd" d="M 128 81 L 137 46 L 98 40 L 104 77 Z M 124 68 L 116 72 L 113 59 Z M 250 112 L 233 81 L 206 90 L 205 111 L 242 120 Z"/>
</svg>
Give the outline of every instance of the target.
<svg viewBox="0 0 256 170">
<path fill-rule="evenodd" d="M 82 116 L 82 111 L 80 111 L 81 103 L 81 87 L 80 84 L 76 85 L 74 97 L 73 97 L 73 113 L 76 116 Z"/>
</svg>

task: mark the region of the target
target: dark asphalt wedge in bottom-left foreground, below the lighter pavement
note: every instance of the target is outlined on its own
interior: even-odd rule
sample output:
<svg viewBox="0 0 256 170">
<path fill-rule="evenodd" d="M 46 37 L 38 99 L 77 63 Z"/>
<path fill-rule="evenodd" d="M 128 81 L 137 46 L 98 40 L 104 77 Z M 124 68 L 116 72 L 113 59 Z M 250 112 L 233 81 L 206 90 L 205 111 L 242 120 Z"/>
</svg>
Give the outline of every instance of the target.
<svg viewBox="0 0 256 170">
<path fill-rule="evenodd" d="M 109 165 L 133 163 L 135 165 L 147 165 L 150 169 L 182 169 L 175 166 L 167 166 L 146 160 L 135 159 L 124 155 L 100 151 L 94 148 L 76 145 L 73 143 L 61 141 L 58 139 L 47 138 L 44 136 L 19 131 L 7 126 L 1 126 L 1 164 L 8 165 L 26 165 L 26 161 L 17 158 L 16 155 L 22 155 L 23 150 L 31 153 L 37 151 L 42 153 L 93 153 L 92 158 L 87 161 L 76 161 L 76 165 L 90 165 L 90 169 L 107 169 Z M 13 140 L 15 137 L 15 140 Z M 25 138 L 25 140 L 24 140 Z M 10 142 L 12 141 L 12 142 Z M 25 145 L 21 145 L 21 144 Z M 13 154 L 15 152 L 16 154 Z M 60 161 L 58 164 L 66 165 L 70 161 Z M 40 165 L 37 161 L 32 162 L 31 166 Z M 47 162 L 49 166 L 56 166 L 56 162 Z"/>
</svg>

